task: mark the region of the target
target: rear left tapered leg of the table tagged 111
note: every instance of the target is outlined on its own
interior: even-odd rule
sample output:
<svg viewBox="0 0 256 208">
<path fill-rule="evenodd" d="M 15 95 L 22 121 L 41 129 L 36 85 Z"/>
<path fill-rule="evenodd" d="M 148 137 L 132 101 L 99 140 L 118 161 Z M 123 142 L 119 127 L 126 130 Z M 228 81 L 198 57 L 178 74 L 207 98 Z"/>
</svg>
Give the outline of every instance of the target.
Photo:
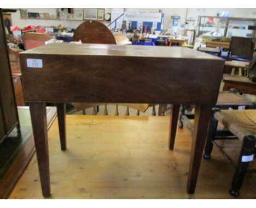
<svg viewBox="0 0 256 208">
<path fill-rule="evenodd" d="M 66 103 L 57 103 L 61 150 L 66 150 Z"/>
</svg>

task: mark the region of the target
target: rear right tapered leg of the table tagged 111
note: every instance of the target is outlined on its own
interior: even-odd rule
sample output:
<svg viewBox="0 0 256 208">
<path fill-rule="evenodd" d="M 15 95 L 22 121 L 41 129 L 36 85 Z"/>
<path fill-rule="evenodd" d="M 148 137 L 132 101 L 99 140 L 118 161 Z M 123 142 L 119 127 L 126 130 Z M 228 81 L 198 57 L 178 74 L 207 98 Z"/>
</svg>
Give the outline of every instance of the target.
<svg viewBox="0 0 256 208">
<path fill-rule="evenodd" d="M 176 136 L 176 130 L 177 130 L 177 124 L 179 119 L 179 106 L 180 105 L 171 105 L 171 116 L 170 116 L 170 129 L 169 129 L 169 149 L 173 150 L 174 142 L 175 142 L 175 136 Z"/>
</svg>

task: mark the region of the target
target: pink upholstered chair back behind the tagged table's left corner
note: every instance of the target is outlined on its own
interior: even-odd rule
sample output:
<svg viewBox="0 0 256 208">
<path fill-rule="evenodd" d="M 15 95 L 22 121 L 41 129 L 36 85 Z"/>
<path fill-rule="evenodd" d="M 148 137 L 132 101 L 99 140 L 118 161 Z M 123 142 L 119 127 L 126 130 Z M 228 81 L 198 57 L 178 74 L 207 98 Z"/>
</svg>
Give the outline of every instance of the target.
<svg viewBox="0 0 256 208">
<path fill-rule="evenodd" d="M 21 36 L 24 42 L 25 50 L 44 45 L 45 41 L 53 39 L 54 37 L 43 33 L 25 33 Z"/>
</svg>

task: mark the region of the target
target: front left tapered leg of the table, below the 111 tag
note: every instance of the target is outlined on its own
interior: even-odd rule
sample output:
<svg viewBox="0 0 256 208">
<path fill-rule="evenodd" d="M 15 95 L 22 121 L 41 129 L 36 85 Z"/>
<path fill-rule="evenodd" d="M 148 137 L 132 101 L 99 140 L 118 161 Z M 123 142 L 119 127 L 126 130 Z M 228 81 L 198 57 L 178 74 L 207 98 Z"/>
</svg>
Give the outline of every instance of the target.
<svg viewBox="0 0 256 208">
<path fill-rule="evenodd" d="M 46 121 L 46 105 L 41 102 L 31 102 L 30 115 L 34 134 L 34 144 L 37 152 L 37 162 L 39 168 L 40 182 L 44 197 L 50 196 L 50 172 L 48 136 Z"/>
</svg>

